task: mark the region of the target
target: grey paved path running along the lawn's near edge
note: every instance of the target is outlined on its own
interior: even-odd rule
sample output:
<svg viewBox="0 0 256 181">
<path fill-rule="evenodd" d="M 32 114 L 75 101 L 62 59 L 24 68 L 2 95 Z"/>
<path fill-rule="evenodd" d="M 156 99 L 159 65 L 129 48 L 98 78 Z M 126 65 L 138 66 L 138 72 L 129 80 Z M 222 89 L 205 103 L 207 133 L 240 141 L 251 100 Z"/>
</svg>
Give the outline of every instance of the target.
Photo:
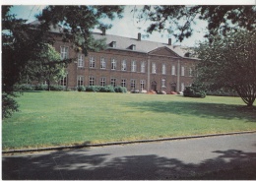
<svg viewBox="0 0 256 181">
<path fill-rule="evenodd" d="M 2 178 L 15 180 L 256 179 L 256 134 L 23 153 L 2 159 Z"/>
</svg>

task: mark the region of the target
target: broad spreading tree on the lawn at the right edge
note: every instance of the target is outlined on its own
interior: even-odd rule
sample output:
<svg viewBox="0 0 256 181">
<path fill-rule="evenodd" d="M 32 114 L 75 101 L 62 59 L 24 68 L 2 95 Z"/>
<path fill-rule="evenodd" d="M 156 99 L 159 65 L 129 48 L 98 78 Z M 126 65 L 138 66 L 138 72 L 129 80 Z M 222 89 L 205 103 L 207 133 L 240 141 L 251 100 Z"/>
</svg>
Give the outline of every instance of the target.
<svg viewBox="0 0 256 181">
<path fill-rule="evenodd" d="M 238 30 L 215 36 L 195 49 L 198 81 L 211 89 L 234 90 L 248 105 L 256 98 L 256 31 Z"/>
</svg>

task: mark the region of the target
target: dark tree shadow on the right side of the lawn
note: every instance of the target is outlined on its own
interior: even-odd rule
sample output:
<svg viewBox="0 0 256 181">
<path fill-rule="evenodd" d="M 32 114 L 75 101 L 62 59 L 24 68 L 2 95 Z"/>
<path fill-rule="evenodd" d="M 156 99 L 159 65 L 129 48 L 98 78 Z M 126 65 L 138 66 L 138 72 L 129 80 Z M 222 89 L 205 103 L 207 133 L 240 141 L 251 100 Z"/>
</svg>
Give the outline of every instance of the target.
<svg viewBox="0 0 256 181">
<path fill-rule="evenodd" d="M 256 107 L 251 109 L 241 105 L 228 105 L 222 103 L 203 103 L 190 101 L 144 101 L 127 102 L 129 107 L 136 107 L 141 111 L 166 112 L 172 114 L 199 116 L 220 119 L 246 119 L 256 122 Z"/>
</svg>

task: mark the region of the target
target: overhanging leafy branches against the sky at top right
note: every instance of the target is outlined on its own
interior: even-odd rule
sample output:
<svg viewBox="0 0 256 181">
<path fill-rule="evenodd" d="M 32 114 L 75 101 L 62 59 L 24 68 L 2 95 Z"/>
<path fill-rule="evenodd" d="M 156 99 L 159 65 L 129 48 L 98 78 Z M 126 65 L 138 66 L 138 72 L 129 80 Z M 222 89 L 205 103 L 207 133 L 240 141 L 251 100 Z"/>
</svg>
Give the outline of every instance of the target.
<svg viewBox="0 0 256 181">
<path fill-rule="evenodd" d="M 206 37 L 228 30 L 255 30 L 256 6 L 144 6 L 135 9 L 137 20 L 149 21 L 147 32 L 167 30 L 177 40 L 182 41 L 193 33 L 192 25 L 197 20 L 208 22 Z"/>
</svg>

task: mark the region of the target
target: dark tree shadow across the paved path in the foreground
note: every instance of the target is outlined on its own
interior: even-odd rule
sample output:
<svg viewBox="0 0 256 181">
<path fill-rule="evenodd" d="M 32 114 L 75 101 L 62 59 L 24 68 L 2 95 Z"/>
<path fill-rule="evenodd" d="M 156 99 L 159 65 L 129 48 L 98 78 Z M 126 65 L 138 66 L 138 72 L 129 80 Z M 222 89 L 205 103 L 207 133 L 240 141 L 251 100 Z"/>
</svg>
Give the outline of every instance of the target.
<svg viewBox="0 0 256 181">
<path fill-rule="evenodd" d="M 198 164 L 157 154 L 116 156 L 85 150 L 4 156 L 4 180 L 256 179 L 256 153 L 214 151 Z"/>
</svg>

